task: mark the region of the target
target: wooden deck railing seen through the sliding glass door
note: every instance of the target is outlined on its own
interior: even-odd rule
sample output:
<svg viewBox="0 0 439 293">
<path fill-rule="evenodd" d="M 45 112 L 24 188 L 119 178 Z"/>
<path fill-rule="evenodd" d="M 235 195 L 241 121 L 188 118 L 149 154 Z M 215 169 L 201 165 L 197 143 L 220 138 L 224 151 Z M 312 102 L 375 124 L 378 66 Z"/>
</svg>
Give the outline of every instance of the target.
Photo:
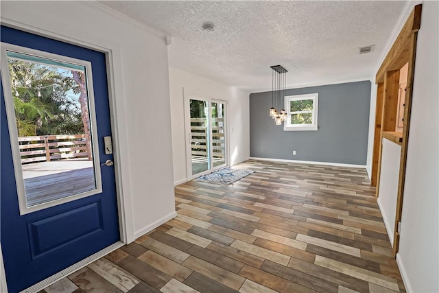
<svg viewBox="0 0 439 293">
<path fill-rule="evenodd" d="M 191 154 L 193 156 L 207 156 L 207 128 L 203 126 L 206 119 L 191 118 Z M 212 127 L 212 154 L 213 158 L 225 159 L 224 118 L 211 119 Z"/>
</svg>

